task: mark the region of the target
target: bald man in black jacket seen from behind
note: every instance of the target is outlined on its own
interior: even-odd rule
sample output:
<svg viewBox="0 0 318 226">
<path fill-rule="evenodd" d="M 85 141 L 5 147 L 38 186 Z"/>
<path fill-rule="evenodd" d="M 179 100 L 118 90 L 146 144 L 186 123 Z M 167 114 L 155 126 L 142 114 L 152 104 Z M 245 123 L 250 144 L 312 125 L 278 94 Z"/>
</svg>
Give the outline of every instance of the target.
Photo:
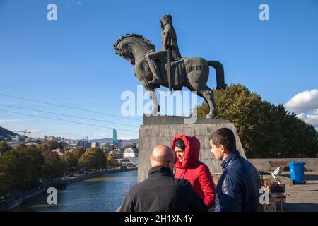
<svg viewBox="0 0 318 226">
<path fill-rule="evenodd" d="M 122 212 L 206 211 L 204 201 L 184 179 L 175 179 L 172 170 L 175 153 L 158 145 L 151 155 L 148 179 L 133 186 L 122 204 Z"/>
</svg>

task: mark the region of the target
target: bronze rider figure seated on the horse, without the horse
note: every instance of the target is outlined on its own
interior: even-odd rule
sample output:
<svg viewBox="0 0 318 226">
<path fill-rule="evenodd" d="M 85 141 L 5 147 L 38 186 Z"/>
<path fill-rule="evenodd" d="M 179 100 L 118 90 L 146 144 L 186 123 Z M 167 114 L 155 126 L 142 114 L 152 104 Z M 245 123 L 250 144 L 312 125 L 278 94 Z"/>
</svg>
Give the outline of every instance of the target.
<svg viewBox="0 0 318 226">
<path fill-rule="evenodd" d="M 156 60 L 164 60 L 167 58 L 167 51 L 171 52 L 171 61 L 181 59 L 181 54 L 177 45 L 177 35 L 175 29 L 172 26 L 172 17 L 169 14 L 163 15 L 163 20 L 160 20 L 162 35 L 162 51 L 149 52 L 146 55 L 146 61 L 148 61 L 149 68 L 153 73 L 153 80 L 148 83 L 153 83 L 154 85 L 159 85 L 162 83 L 162 77 L 160 76 L 160 70 Z"/>
</svg>

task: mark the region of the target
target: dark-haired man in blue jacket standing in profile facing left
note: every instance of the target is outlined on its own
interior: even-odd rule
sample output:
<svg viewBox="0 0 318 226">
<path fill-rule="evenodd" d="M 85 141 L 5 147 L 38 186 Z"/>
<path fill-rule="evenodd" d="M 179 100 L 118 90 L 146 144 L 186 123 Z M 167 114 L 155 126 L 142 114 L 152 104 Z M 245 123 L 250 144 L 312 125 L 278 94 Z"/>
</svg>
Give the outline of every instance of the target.
<svg viewBox="0 0 318 226">
<path fill-rule="evenodd" d="M 259 172 L 236 150 L 234 133 L 228 128 L 209 137 L 211 152 L 220 160 L 223 174 L 216 186 L 216 212 L 259 211 Z"/>
</svg>

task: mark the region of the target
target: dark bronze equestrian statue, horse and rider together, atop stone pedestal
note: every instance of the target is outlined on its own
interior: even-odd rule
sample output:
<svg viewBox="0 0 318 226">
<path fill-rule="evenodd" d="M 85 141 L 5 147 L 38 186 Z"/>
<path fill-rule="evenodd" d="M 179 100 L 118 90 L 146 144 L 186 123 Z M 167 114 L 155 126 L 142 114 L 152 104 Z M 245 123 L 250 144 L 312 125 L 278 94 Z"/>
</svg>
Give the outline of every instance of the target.
<svg viewBox="0 0 318 226">
<path fill-rule="evenodd" d="M 124 57 L 134 65 L 134 73 L 148 91 L 153 102 L 153 111 L 156 115 L 160 111 L 155 88 L 160 85 L 172 90 L 181 90 L 187 87 L 203 97 L 210 107 L 206 118 L 214 118 L 218 114 L 214 101 L 213 90 L 206 85 L 209 67 L 216 70 L 216 89 L 225 89 L 224 69 L 219 61 L 206 61 L 201 57 L 181 57 L 177 46 L 177 35 L 172 26 L 172 17 L 163 15 L 160 20 L 162 29 L 162 50 L 155 51 L 155 46 L 141 35 L 127 34 L 114 43 L 116 54 Z"/>
</svg>

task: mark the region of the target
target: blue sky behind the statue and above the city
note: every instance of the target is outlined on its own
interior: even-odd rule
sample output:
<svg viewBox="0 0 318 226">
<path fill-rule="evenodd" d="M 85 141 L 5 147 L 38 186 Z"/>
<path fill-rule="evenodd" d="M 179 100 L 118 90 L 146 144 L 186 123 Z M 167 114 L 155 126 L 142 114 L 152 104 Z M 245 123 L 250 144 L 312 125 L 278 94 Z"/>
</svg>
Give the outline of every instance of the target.
<svg viewBox="0 0 318 226">
<path fill-rule="evenodd" d="M 57 5 L 57 21 L 47 20 L 50 3 Z M 259 20 L 262 3 L 269 5 L 269 21 Z M 125 90 L 136 93 L 140 82 L 134 77 L 133 67 L 114 54 L 112 44 L 126 33 L 137 33 L 160 49 L 159 18 L 165 13 L 172 15 L 183 57 L 222 62 L 226 83 L 246 85 L 276 105 L 294 103 L 298 106 L 290 109 L 297 108 L 304 120 L 313 116 L 312 124 L 318 126 L 318 95 L 310 93 L 309 100 L 307 96 L 318 88 L 317 0 L 0 0 L 0 109 L 11 111 L 0 111 L 0 126 L 13 131 L 28 129 L 33 131 L 32 136 L 65 138 L 112 137 L 111 128 L 117 128 L 129 130 L 118 130 L 119 138 L 138 138 L 142 117 L 130 117 L 139 121 L 121 117 L 124 100 L 120 97 Z M 216 85 L 213 73 L 208 84 L 212 88 Z M 300 101 L 292 101 L 306 91 Z M 299 109 L 302 98 L 309 102 L 309 108 L 306 105 Z"/>
</svg>

